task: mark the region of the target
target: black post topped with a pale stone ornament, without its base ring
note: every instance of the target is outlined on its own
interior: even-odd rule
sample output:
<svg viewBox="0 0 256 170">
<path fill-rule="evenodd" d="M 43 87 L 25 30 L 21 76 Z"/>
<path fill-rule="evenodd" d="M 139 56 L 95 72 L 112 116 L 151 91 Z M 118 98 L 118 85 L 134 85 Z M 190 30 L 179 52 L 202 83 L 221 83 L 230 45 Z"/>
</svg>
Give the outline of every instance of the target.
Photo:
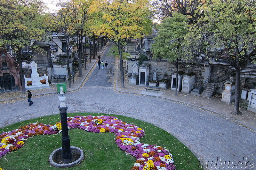
<svg viewBox="0 0 256 170">
<path fill-rule="evenodd" d="M 60 87 L 60 120 L 61 120 L 61 131 L 62 131 L 62 161 L 67 164 L 72 161 L 72 153 L 70 149 L 70 139 L 68 136 L 68 122 L 67 122 L 67 105 L 65 105 L 64 101 L 66 100 L 66 96 L 63 92 L 63 87 Z"/>
</svg>

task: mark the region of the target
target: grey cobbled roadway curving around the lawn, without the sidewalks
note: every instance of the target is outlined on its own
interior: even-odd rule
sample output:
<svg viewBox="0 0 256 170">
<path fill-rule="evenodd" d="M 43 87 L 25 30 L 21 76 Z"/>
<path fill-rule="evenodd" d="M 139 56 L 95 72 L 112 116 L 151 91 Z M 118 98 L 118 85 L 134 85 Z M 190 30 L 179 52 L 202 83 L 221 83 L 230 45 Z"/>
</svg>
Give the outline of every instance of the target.
<svg viewBox="0 0 256 170">
<path fill-rule="evenodd" d="M 103 70 L 98 69 L 98 71 Z M 91 76 L 93 76 L 93 71 Z M 119 76 L 117 77 L 119 78 Z M 117 82 L 120 82 L 118 78 Z M 114 79 L 110 81 L 111 86 L 86 85 L 87 82 L 90 82 L 90 78 L 80 86 L 79 90 L 66 93 L 67 100 L 65 104 L 68 106 L 67 111 L 69 113 L 108 113 L 140 119 L 152 123 L 177 137 L 196 154 L 199 160 L 206 162 L 232 161 L 234 166 L 238 163 L 241 164 L 245 157 L 246 161 L 244 159 L 243 163 L 248 163 L 247 166 L 250 163 L 255 169 L 255 130 L 203 108 L 170 100 L 173 97 L 169 95 L 168 99 L 168 96 L 166 96 L 170 94 L 168 89 L 163 90 L 164 94 L 161 96 L 163 98 L 158 98 L 140 95 L 141 87 L 125 84 L 126 87 L 121 88 L 120 84 L 116 83 L 116 88 L 113 88 L 113 85 L 115 85 Z M 148 94 L 150 95 L 150 93 Z M 180 93 L 178 95 L 181 96 Z M 186 97 L 189 98 L 189 95 Z M 190 100 L 193 99 L 190 98 Z M 60 101 L 56 92 L 34 95 L 32 100 L 34 104 L 31 107 L 28 107 L 26 97 L 0 102 L 0 126 L 4 127 L 34 117 L 60 113 L 58 109 Z M 196 102 L 196 100 L 194 99 L 191 102 Z M 217 106 L 213 101 L 211 104 L 211 109 Z M 198 103 L 197 106 L 199 106 Z M 170 150 L 174 149 L 170 148 Z"/>
</svg>

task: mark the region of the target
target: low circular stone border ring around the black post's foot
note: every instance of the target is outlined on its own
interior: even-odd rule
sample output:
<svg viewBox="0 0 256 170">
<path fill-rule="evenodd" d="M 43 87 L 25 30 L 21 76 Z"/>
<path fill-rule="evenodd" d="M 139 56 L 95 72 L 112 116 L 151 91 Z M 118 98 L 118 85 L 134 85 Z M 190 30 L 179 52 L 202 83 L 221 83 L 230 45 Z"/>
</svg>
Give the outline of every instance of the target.
<svg viewBox="0 0 256 170">
<path fill-rule="evenodd" d="M 80 155 L 79 159 L 77 159 L 74 162 L 70 162 L 68 164 L 58 164 L 58 163 L 54 162 L 53 159 L 56 157 L 56 155 L 59 152 L 62 152 L 62 147 L 61 147 L 61 148 L 55 149 L 52 152 L 52 154 L 50 155 L 50 157 L 49 157 L 50 164 L 57 168 L 70 168 L 72 166 L 78 165 L 84 159 L 84 152 L 82 149 L 75 147 L 75 146 L 70 146 L 70 149 L 71 149 L 71 153 L 77 153 L 78 155 Z"/>
</svg>

